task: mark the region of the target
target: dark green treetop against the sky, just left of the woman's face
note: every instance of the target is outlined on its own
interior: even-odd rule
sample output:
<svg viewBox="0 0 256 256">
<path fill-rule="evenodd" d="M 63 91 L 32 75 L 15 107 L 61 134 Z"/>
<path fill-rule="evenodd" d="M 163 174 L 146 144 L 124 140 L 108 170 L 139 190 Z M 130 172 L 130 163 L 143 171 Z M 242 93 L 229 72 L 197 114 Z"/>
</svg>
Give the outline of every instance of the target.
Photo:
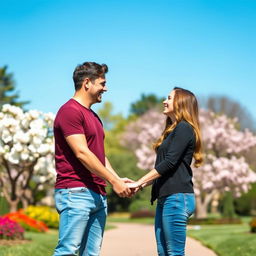
<svg viewBox="0 0 256 256">
<path fill-rule="evenodd" d="M 164 98 L 158 98 L 154 94 L 142 94 L 141 98 L 131 104 L 131 114 L 141 116 L 149 109 L 162 107 Z"/>
</svg>

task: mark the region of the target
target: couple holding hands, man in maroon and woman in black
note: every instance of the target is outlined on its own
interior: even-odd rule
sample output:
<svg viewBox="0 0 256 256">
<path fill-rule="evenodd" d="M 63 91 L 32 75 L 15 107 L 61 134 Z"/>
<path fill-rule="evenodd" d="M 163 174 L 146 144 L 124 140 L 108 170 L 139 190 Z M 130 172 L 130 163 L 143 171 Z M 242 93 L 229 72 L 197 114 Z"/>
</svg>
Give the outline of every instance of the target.
<svg viewBox="0 0 256 256">
<path fill-rule="evenodd" d="M 154 169 L 138 181 L 120 178 L 105 156 L 104 130 L 91 109 L 107 91 L 105 64 L 84 62 L 73 72 L 74 96 L 54 121 L 55 204 L 60 215 L 54 256 L 98 256 L 107 216 L 106 182 L 120 197 L 152 185 L 157 199 L 155 237 L 158 255 L 182 256 L 187 220 L 195 211 L 192 159 L 202 164 L 198 104 L 194 94 L 175 87 L 163 102 L 166 125 L 154 143 Z"/>
</svg>

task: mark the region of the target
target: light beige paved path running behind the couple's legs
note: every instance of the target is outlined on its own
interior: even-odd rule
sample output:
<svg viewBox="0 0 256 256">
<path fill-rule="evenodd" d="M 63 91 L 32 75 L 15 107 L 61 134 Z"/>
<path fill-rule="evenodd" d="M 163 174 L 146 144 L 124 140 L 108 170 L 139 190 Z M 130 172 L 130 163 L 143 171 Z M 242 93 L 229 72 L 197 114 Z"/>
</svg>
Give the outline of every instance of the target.
<svg viewBox="0 0 256 256">
<path fill-rule="evenodd" d="M 104 234 L 101 256 L 156 256 L 153 225 L 113 223 L 117 228 Z M 200 242 L 188 237 L 187 256 L 217 256 Z"/>
</svg>

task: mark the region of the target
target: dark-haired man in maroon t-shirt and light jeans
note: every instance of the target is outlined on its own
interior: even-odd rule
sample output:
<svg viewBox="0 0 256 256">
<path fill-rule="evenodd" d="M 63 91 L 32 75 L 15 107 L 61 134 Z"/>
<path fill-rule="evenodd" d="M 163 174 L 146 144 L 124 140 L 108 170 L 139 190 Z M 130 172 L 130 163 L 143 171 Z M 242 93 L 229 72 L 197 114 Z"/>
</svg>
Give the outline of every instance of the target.
<svg viewBox="0 0 256 256">
<path fill-rule="evenodd" d="M 106 181 L 120 197 L 131 190 L 104 153 L 102 123 L 91 110 L 107 91 L 108 67 L 85 62 L 73 73 L 75 94 L 54 121 L 59 241 L 54 256 L 99 255 L 107 215 Z"/>
</svg>

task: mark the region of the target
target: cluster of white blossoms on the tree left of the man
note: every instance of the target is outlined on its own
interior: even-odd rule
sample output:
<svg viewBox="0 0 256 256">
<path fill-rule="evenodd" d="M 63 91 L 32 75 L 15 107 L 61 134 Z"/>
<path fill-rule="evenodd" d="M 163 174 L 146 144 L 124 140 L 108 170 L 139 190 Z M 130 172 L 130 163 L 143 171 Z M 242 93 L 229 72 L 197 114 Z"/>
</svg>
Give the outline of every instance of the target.
<svg viewBox="0 0 256 256">
<path fill-rule="evenodd" d="M 37 110 L 23 112 L 19 107 L 5 104 L 0 112 L 0 162 L 7 161 L 14 177 L 23 166 L 33 168 L 32 179 L 42 183 L 55 180 L 54 143 L 52 137 L 54 115 Z M 24 172 L 27 169 L 24 169 Z M 8 177 L 4 176 L 3 177 Z M 17 186 L 24 185 L 25 173 Z M 6 182 L 6 186 L 10 184 Z M 8 187 L 8 189 L 9 189 Z M 8 190 L 7 189 L 7 190 Z"/>
</svg>

